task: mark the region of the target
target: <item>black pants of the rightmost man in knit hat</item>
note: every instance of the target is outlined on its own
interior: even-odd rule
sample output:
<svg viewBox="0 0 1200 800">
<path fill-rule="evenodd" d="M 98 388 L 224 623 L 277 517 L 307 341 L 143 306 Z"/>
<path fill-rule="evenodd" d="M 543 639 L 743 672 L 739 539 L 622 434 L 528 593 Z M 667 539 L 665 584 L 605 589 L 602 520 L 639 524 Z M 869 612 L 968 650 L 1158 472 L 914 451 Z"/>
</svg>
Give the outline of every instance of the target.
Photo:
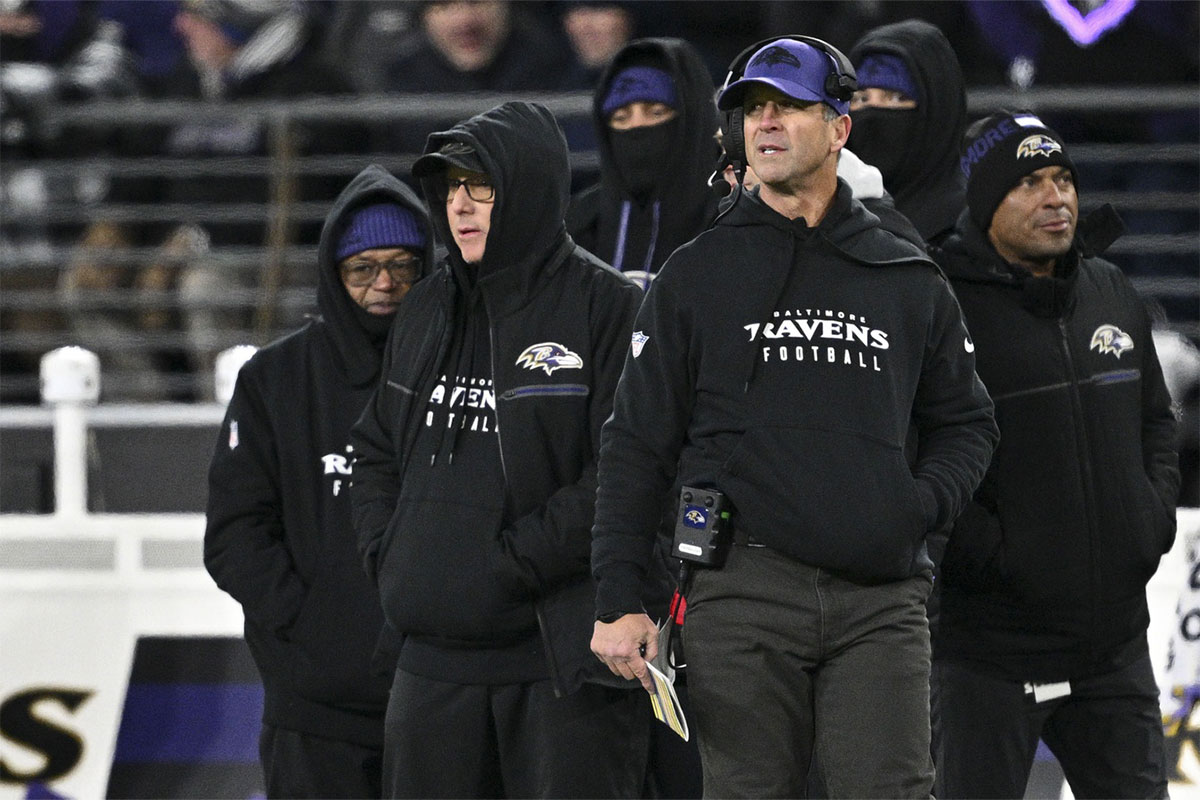
<svg viewBox="0 0 1200 800">
<path fill-rule="evenodd" d="M 938 798 L 1020 798 L 1038 739 L 1076 798 L 1165 798 L 1166 759 L 1154 673 L 1146 655 L 1114 673 L 1070 682 L 1038 703 L 1021 681 L 961 661 L 934 662 Z"/>
</svg>

